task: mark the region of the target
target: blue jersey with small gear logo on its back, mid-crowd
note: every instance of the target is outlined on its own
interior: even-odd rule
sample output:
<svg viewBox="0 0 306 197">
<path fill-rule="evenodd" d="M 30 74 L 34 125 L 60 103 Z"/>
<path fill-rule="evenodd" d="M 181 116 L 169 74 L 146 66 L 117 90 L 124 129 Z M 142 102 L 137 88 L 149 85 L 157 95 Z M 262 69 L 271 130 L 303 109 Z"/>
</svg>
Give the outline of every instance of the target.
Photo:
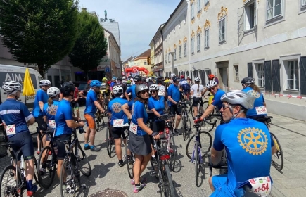
<svg viewBox="0 0 306 197">
<path fill-rule="evenodd" d="M 110 119 L 110 125 L 113 125 L 114 120 L 123 119 L 123 124 L 128 123 L 127 115 L 122 110 L 122 106 L 127 103 L 127 100 L 123 98 L 115 98 L 110 100 L 108 103 L 108 112 L 112 113 L 112 117 Z"/>
</svg>

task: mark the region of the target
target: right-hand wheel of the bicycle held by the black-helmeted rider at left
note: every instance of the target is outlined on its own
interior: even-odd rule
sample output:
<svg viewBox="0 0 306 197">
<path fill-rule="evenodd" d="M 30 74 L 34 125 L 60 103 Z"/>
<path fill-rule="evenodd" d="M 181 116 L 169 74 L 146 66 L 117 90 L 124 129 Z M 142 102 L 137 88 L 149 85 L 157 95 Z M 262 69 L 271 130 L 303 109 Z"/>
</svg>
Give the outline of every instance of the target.
<svg viewBox="0 0 306 197">
<path fill-rule="evenodd" d="M 77 148 L 75 149 L 75 159 L 77 160 L 77 165 L 82 174 L 89 177 L 91 174 L 91 166 L 89 160 L 87 159 L 87 155 L 83 151 L 80 144 L 78 144 Z"/>
</svg>

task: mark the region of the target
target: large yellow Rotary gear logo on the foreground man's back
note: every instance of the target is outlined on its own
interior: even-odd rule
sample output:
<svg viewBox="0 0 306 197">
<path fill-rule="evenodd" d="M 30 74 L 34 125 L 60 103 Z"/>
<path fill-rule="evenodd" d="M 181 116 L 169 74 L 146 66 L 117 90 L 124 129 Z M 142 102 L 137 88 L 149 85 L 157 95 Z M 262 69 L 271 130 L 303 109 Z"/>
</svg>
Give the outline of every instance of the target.
<svg viewBox="0 0 306 197">
<path fill-rule="evenodd" d="M 267 135 L 258 128 L 245 128 L 238 133 L 238 142 L 246 152 L 253 155 L 261 155 L 267 150 Z"/>
</svg>

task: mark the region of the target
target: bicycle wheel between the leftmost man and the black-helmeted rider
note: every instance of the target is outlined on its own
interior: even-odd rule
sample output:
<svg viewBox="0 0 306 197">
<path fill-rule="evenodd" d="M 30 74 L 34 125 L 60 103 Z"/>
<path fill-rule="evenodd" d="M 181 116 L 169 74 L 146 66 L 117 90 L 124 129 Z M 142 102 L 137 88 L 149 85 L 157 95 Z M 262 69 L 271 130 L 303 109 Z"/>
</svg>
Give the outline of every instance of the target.
<svg viewBox="0 0 306 197">
<path fill-rule="evenodd" d="M 37 178 L 39 186 L 44 189 L 48 189 L 56 174 L 56 161 L 54 159 L 54 152 L 51 147 L 46 146 L 42 149 L 42 153 L 39 154 L 37 162 Z"/>
</svg>

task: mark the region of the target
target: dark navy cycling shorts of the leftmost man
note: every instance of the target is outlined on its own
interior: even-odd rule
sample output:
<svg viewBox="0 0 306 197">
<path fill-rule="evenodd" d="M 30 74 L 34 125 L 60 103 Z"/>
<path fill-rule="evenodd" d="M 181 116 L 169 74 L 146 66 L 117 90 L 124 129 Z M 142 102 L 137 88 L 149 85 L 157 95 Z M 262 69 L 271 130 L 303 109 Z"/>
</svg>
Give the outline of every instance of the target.
<svg viewBox="0 0 306 197">
<path fill-rule="evenodd" d="M 15 134 L 15 136 L 8 139 L 8 142 L 11 141 L 14 141 L 14 145 L 12 146 L 14 154 L 21 149 L 21 153 L 19 153 L 17 157 L 18 161 L 20 161 L 21 155 L 23 155 L 24 160 L 31 160 L 34 158 L 33 141 L 30 132 Z"/>
</svg>

